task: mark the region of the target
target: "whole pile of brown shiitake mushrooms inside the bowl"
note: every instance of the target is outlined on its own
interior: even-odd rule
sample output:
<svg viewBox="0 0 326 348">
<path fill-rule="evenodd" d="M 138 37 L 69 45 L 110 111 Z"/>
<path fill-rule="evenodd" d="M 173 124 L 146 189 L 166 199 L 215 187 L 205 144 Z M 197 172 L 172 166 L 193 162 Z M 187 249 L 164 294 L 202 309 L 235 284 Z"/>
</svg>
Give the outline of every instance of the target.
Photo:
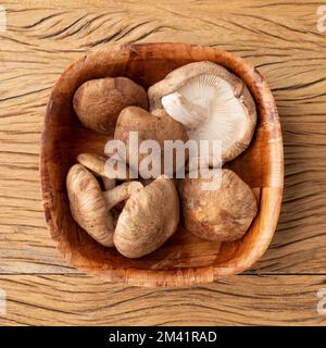
<svg viewBox="0 0 326 348">
<path fill-rule="evenodd" d="M 148 92 L 126 77 L 91 79 L 76 90 L 73 105 L 85 127 L 102 134 L 114 128 L 114 139 L 127 149 L 134 130 L 139 141 L 155 140 L 162 148 L 165 140 L 220 140 L 223 164 L 247 149 L 256 123 L 243 82 L 212 62 L 184 65 Z M 214 167 L 211 149 L 200 154 Z M 140 164 L 143 156 L 137 148 L 115 154 L 131 169 L 129 151 L 137 152 Z M 189 233 L 214 241 L 242 238 L 256 215 L 251 188 L 230 170 L 222 169 L 217 189 L 205 190 L 202 184 L 211 178 L 192 177 L 191 172 L 185 178 L 164 175 L 164 153 L 155 158 L 162 172 L 150 178 L 108 173 L 108 159 L 104 153 L 77 157 L 66 178 L 70 207 L 73 219 L 97 243 L 115 247 L 126 258 L 161 247 L 177 231 L 180 214 Z M 185 157 L 185 167 L 189 160 Z M 178 170 L 174 166 L 173 173 Z"/>
</svg>

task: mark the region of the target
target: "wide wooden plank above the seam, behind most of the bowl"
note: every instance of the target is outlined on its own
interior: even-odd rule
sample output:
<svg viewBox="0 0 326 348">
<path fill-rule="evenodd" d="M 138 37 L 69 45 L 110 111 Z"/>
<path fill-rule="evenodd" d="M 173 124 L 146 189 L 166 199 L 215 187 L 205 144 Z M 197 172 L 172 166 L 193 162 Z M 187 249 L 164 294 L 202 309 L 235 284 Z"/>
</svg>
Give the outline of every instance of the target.
<svg viewBox="0 0 326 348">
<path fill-rule="evenodd" d="M 267 77 L 285 140 L 285 198 L 273 244 L 252 272 L 325 273 L 326 34 L 316 1 L 8 1 L 0 33 L 0 272 L 75 272 L 55 251 L 38 153 L 51 87 L 106 45 L 183 41 L 246 57 Z"/>
</svg>

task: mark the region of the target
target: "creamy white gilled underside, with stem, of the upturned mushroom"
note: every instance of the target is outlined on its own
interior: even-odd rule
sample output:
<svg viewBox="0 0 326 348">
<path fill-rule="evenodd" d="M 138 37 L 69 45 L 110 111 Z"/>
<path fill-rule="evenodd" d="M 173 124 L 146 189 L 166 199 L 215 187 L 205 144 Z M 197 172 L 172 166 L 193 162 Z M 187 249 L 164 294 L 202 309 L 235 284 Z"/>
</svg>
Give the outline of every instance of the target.
<svg viewBox="0 0 326 348">
<path fill-rule="evenodd" d="M 184 124 L 190 139 L 221 140 L 222 153 L 244 136 L 246 107 L 218 76 L 192 77 L 177 91 L 164 96 L 162 104 L 173 119 Z"/>
</svg>

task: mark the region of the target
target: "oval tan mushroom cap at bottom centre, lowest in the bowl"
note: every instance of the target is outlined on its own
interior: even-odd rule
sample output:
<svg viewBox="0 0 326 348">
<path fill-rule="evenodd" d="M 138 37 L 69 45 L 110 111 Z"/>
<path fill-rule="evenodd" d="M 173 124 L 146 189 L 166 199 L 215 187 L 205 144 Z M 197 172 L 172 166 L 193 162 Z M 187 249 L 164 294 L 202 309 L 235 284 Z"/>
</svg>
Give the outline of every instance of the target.
<svg viewBox="0 0 326 348">
<path fill-rule="evenodd" d="M 134 194 L 118 216 L 116 249 L 127 258 L 156 250 L 177 228 L 179 200 L 173 181 L 161 175 Z"/>
</svg>

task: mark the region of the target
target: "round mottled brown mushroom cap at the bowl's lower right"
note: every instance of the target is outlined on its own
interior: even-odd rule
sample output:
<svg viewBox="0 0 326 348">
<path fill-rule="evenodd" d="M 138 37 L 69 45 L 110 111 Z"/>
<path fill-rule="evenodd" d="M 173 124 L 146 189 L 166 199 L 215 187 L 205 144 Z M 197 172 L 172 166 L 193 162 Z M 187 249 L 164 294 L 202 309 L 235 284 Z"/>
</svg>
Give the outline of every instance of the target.
<svg viewBox="0 0 326 348">
<path fill-rule="evenodd" d="M 211 181 L 188 176 L 179 183 L 186 228 L 214 241 L 241 238 L 258 212 L 251 188 L 229 170 L 222 170 L 220 188 L 203 190 L 202 184 Z"/>
</svg>

